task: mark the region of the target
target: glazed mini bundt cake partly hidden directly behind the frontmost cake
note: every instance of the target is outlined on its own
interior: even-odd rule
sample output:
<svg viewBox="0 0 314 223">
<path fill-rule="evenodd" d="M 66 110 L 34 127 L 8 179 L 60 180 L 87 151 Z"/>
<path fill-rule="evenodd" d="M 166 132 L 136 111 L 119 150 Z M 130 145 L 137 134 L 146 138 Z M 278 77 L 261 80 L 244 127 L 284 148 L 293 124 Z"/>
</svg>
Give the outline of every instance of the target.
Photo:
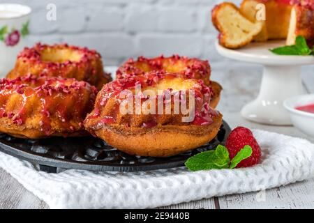
<svg viewBox="0 0 314 223">
<path fill-rule="evenodd" d="M 211 67 L 208 61 L 179 55 L 170 57 L 158 56 L 151 59 L 140 56 L 137 60 L 128 59 L 117 70 L 117 78 L 144 75 L 147 72 L 175 73 L 185 78 L 201 79 L 205 85 L 211 86 L 213 90 L 210 106 L 216 107 L 218 105 L 222 87 L 217 82 L 210 81 Z"/>
</svg>

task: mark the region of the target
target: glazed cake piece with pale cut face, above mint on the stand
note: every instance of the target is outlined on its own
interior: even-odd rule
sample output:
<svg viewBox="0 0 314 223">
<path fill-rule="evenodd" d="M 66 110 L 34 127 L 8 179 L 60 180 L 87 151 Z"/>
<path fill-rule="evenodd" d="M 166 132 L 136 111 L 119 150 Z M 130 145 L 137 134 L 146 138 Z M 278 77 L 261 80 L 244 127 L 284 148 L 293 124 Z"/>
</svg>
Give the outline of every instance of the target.
<svg viewBox="0 0 314 223">
<path fill-rule="evenodd" d="M 314 45 L 314 3 L 305 2 L 301 1 L 292 8 L 287 45 L 294 45 L 297 36 L 304 36 L 309 47 Z"/>
</svg>

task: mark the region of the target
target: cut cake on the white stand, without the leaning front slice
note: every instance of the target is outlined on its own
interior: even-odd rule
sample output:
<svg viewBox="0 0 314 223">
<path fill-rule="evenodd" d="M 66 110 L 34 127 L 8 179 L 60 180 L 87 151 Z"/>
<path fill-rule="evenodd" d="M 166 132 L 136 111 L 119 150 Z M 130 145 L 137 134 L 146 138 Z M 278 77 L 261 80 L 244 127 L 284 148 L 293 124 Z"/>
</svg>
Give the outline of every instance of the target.
<svg viewBox="0 0 314 223">
<path fill-rule="evenodd" d="M 244 0 L 240 10 L 251 22 L 257 22 L 257 4 L 263 3 L 266 20 L 262 31 L 254 40 L 267 41 L 287 38 L 287 45 L 293 45 L 297 36 L 314 42 L 314 1 L 313 0 Z"/>
</svg>

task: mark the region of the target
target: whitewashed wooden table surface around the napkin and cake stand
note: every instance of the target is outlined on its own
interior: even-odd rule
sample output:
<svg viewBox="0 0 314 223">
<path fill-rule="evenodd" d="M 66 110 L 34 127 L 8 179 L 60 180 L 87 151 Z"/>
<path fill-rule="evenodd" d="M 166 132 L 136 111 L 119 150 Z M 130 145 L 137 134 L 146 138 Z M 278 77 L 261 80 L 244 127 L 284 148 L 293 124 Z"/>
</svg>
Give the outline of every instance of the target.
<svg viewBox="0 0 314 223">
<path fill-rule="evenodd" d="M 225 68 L 223 64 L 213 67 L 212 79 L 224 87 L 218 110 L 223 113 L 225 121 L 232 128 L 243 125 L 306 138 L 314 143 L 314 139 L 306 137 L 292 126 L 260 125 L 241 118 L 239 114 L 241 107 L 258 93 L 260 67 L 241 63 L 230 68 Z M 314 93 L 314 77 L 311 77 L 313 70 L 313 66 L 303 70 L 304 89 L 308 93 Z M 6 171 L 0 169 L 0 208 L 49 208 L 49 206 L 22 187 Z M 214 197 L 162 208 L 314 208 L 314 178 L 266 191 Z"/>
</svg>

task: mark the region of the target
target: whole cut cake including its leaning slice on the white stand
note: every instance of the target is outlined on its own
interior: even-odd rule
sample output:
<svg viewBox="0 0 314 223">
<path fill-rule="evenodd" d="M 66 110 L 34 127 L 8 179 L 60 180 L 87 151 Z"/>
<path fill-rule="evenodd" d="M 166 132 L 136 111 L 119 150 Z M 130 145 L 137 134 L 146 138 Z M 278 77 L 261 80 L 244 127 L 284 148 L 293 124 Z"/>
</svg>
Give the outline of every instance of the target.
<svg viewBox="0 0 314 223">
<path fill-rule="evenodd" d="M 227 48 L 252 40 L 286 39 L 286 45 L 294 45 L 297 36 L 304 36 L 310 47 L 314 43 L 313 0 L 244 0 L 239 8 L 223 2 L 214 7 L 211 20 Z"/>
</svg>

